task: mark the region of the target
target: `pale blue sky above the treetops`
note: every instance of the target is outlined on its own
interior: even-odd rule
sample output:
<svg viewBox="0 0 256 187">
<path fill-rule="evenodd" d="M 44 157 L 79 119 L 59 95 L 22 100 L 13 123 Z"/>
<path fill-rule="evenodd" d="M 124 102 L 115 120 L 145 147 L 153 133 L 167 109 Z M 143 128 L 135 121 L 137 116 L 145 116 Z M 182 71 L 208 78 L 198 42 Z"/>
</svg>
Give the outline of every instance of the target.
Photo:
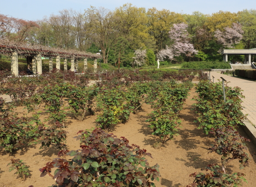
<svg viewBox="0 0 256 187">
<path fill-rule="evenodd" d="M 73 9 L 84 11 L 90 6 L 104 7 L 110 10 L 126 3 L 146 9 L 167 9 L 177 13 L 192 14 L 200 11 L 212 14 L 219 10 L 238 12 L 244 9 L 256 9 L 256 0 L 0 0 L 0 14 L 37 21 L 60 10 Z"/>
</svg>

